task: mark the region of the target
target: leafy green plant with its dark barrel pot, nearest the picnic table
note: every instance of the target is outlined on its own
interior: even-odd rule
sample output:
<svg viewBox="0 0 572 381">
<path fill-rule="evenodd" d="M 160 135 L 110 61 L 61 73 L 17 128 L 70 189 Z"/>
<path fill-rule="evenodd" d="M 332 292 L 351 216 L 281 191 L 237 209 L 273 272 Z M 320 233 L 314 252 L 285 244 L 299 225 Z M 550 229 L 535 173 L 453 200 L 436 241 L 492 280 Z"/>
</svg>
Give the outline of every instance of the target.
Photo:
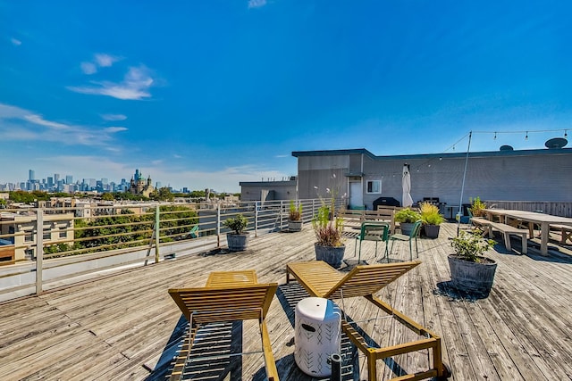
<svg viewBox="0 0 572 381">
<path fill-rule="evenodd" d="M 455 254 L 450 254 L 450 278 L 458 289 L 488 295 L 497 263 L 483 254 L 492 248 L 494 241 L 484 238 L 483 232 L 461 230 L 451 241 Z"/>
</svg>

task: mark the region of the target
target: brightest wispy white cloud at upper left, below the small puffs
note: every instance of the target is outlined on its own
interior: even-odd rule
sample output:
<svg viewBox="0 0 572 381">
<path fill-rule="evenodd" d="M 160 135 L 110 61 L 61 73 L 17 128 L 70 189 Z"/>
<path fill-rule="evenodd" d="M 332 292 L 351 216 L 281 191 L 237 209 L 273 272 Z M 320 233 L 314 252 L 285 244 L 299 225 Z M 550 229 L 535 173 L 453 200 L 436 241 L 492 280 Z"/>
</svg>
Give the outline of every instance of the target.
<svg viewBox="0 0 572 381">
<path fill-rule="evenodd" d="M 122 82 L 114 83 L 91 82 L 92 87 L 67 87 L 69 90 L 81 94 L 108 95 L 122 100 L 141 100 L 151 96 L 148 89 L 153 85 L 150 70 L 144 66 L 139 68 L 131 67 Z"/>
</svg>

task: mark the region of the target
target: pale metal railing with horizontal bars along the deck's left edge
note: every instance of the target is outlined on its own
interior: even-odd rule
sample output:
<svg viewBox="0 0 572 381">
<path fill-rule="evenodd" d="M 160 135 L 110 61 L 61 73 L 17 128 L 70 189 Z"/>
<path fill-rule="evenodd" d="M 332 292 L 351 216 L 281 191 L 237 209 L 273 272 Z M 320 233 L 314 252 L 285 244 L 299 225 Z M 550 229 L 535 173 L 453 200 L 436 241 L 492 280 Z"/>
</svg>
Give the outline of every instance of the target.
<svg viewBox="0 0 572 381">
<path fill-rule="evenodd" d="M 309 222 L 329 200 L 297 200 Z M 336 202 L 336 207 L 341 201 Z M 0 210 L 0 302 L 109 271 L 223 247 L 226 219 L 254 236 L 288 227 L 290 200 L 134 203 Z"/>
</svg>

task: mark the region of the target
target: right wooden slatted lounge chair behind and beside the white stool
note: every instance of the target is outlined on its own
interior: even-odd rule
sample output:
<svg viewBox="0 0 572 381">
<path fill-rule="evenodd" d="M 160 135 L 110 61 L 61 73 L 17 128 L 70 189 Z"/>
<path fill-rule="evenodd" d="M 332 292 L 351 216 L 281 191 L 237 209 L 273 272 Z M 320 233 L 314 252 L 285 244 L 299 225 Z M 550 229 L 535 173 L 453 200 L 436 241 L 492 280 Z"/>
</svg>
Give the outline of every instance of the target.
<svg viewBox="0 0 572 381">
<path fill-rule="evenodd" d="M 290 282 L 290 276 L 294 277 L 308 294 L 328 299 L 341 299 L 342 306 L 343 298 L 363 296 L 417 335 L 425 337 L 415 342 L 379 348 L 367 344 L 366 339 L 357 332 L 357 329 L 352 327 L 345 317 L 342 318 L 341 328 L 344 333 L 361 352 L 366 354 L 370 381 L 377 379 L 377 360 L 424 349 L 433 350 L 433 368 L 399 377 L 399 379 L 419 380 L 428 377 L 444 379 L 450 376 L 450 370 L 442 362 L 441 337 L 374 296 L 384 286 L 389 285 L 420 263 L 420 261 L 409 261 L 356 266 L 344 276 L 324 261 L 296 262 L 287 265 L 286 282 Z"/>
</svg>

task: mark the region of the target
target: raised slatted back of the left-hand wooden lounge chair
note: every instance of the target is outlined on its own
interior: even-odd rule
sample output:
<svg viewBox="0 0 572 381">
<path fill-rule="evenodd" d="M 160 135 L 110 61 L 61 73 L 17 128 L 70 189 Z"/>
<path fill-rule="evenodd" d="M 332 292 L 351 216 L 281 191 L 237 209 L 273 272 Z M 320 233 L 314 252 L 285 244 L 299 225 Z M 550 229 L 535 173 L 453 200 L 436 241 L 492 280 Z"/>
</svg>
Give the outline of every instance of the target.
<svg viewBox="0 0 572 381">
<path fill-rule="evenodd" d="M 265 319 L 278 284 L 170 289 L 172 299 L 193 324 Z"/>
</svg>

